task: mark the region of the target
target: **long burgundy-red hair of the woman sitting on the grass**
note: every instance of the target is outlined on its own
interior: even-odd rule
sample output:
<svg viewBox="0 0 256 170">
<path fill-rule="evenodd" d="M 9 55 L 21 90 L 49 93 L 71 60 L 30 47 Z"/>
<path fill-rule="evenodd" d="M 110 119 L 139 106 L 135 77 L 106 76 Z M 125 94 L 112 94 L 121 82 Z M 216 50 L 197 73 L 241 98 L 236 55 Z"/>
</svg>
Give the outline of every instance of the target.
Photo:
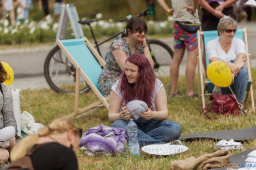
<svg viewBox="0 0 256 170">
<path fill-rule="evenodd" d="M 120 91 L 123 95 L 122 102 L 126 105 L 131 100 L 142 100 L 148 104 L 148 108 L 153 110 L 152 99 L 155 90 L 156 75 L 148 59 L 142 54 L 132 54 L 127 58 L 127 61 L 138 66 L 138 75 L 135 84 L 128 82 L 125 70 L 120 75 Z"/>
</svg>

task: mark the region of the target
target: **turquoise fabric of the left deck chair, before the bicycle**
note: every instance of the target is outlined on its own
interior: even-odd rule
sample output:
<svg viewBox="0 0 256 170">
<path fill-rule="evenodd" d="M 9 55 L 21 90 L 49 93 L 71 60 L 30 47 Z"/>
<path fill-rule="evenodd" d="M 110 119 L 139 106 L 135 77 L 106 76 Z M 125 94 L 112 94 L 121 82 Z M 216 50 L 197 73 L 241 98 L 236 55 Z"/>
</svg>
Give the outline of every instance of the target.
<svg viewBox="0 0 256 170">
<path fill-rule="evenodd" d="M 83 39 L 60 40 L 64 47 L 74 58 L 81 70 L 86 73 L 87 77 L 92 81 L 94 86 L 99 90 L 97 85 L 98 77 L 101 74 L 102 68 L 90 52 Z M 102 93 L 101 93 L 102 95 Z"/>
</svg>

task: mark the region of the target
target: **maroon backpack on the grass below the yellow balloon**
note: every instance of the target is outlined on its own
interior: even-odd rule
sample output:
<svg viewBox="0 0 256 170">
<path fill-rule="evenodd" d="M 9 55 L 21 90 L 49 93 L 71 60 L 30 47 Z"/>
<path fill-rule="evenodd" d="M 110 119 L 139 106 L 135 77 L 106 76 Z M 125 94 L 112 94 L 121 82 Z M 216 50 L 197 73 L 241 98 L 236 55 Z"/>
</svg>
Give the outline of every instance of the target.
<svg viewBox="0 0 256 170">
<path fill-rule="evenodd" d="M 209 112 L 223 114 L 224 116 L 227 116 L 229 114 L 233 116 L 239 116 L 241 113 L 241 110 L 236 102 L 234 95 L 211 95 L 208 104 L 205 106 L 202 112 L 204 112 L 210 104 L 211 109 L 205 112 L 206 118 L 212 118 L 208 116 Z M 242 114 L 245 115 L 245 111 L 242 110 Z"/>
</svg>

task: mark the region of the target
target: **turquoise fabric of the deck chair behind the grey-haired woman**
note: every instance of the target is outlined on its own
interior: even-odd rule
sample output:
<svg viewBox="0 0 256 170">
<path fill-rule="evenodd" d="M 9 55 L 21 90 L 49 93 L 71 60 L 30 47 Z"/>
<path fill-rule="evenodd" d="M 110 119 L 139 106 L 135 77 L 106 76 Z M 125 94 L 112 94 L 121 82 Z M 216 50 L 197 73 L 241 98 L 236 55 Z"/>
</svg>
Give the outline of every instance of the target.
<svg viewBox="0 0 256 170">
<path fill-rule="evenodd" d="M 205 52 L 206 52 L 206 44 L 211 41 L 211 40 L 214 40 L 218 37 L 218 32 L 217 30 L 212 30 L 212 31 L 205 31 L 203 32 L 204 33 L 204 48 L 205 48 Z M 236 33 L 235 33 L 235 37 L 238 38 L 238 39 L 241 39 L 243 40 L 243 30 L 242 29 L 237 29 L 236 30 Z M 206 55 L 206 65 L 208 67 L 209 65 L 209 60 L 207 58 L 207 54 L 205 53 Z M 248 83 L 250 82 L 250 80 L 248 80 Z M 231 89 L 234 91 L 234 86 L 231 86 Z M 214 85 L 211 83 L 211 81 L 209 80 L 209 84 L 207 85 L 206 87 L 206 90 L 209 92 L 209 93 L 212 93 L 212 91 L 214 90 Z M 247 89 L 246 91 L 248 90 L 248 84 L 247 84 Z M 231 91 L 228 89 L 225 93 L 227 94 L 230 94 Z"/>
</svg>

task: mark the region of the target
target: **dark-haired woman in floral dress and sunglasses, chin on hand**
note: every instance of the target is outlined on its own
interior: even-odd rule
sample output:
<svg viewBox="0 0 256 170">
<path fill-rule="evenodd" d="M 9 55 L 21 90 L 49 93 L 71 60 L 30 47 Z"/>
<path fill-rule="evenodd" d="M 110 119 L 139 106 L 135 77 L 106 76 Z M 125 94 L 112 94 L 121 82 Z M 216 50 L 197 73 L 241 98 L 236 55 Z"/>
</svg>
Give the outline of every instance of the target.
<svg viewBox="0 0 256 170">
<path fill-rule="evenodd" d="M 154 67 L 145 39 L 148 32 L 147 28 L 147 24 L 142 18 L 132 17 L 127 21 L 121 39 L 114 40 L 108 47 L 106 66 L 98 79 L 99 90 L 105 97 L 110 94 L 112 85 L 118 80 L 121 72 L 124 71 L 126 59 L 132 54 L 144 54 L 149 60 L 150 66 Z"/>
</svg>

